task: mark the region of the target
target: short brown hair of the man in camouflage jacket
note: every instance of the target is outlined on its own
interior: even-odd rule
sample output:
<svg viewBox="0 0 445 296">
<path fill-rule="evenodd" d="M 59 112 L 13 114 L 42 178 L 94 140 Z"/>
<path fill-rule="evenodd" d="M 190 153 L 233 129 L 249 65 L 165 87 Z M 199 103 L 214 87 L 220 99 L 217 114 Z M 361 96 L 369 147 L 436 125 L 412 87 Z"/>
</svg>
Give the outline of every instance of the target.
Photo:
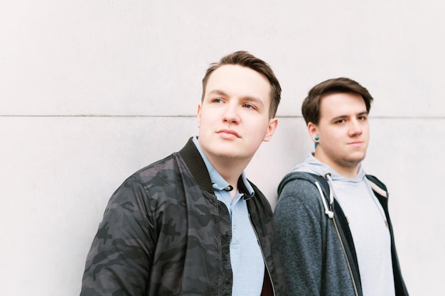
<svg viewBox="0 0 445 296">
<path fill-rule="evenodd" d="M 240 65 L 243 67 L 248 67 L 267 77 L 271 87 L 269 118 L 274 118 L 275 114 L 277 114 L 279 101 L 281 99 L 282 87 L 279 85 L 277 77 L 274 75 L 274 71 L 272 71 L 272 68 L 267 64 L 267 62 L 264 62 L 264 60 L 260 60 L 258 57 L 254 57 L 254 55 L 251 55 L 250 53 L 247 53 L 247 51 L 243 50 L 225 55 L 221 58 L 220 62 L 210 64 L 210 67 L 205 72 L 203 78 L 203 95 L 201 97 L 201 102 L 204 100 L 205 87 L 210 75 L 213 73 L 213 71 L 217 70 L 223 65 Z"/>
</svg>

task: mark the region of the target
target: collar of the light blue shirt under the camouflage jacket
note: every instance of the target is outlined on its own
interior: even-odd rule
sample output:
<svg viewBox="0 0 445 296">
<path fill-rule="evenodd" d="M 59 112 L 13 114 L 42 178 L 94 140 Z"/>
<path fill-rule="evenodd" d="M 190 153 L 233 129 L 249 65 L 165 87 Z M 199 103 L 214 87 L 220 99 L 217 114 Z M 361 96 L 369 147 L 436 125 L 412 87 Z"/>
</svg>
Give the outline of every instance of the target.
<svg viewBox="0 0 445 296">
<path fill-rule="evenodd" d="M 218 170 L 216 170 L 215 167 L 212 165 L 212 163 L 210 163 L 210 160 L 208 160 L 207 156 L 205 156 L 203 149 L 199 145 L 198 137 L 196 137 L 196 136 L 193 137 L 193 143 L 195 144 L 201 157 L 204 160 L 205 167 L 207 168 L 208 174 L 210 175 L 210 180 L 213 183 L 213 189 L 227 190 L 228 187 L 231 187 L 229 182 L 224 180 L 224 178 L 220 175 Z M 238 191 L 240 191 L 240 189 L 241 189 L 240 185 L 244 185 L 242 187 L 244 187 L 243 189 L 245 189 L 247 191 L 247 192 L 245 192 L 245 193 L 247 193 L 245 195 L 248 195 L 248 196 L 245 197 L 245 199 L 249 199 L 254 196 L 254 190 L 252 188 L 252 185 L 250 185 L 250 182 L 247 180 L 247 177 L 246 177 L 244 171 L 241 173 L 240 179 L 238 180 Z M 230 191 L 230 190 L 227 190 L 227 191 Z"/>
</svg>

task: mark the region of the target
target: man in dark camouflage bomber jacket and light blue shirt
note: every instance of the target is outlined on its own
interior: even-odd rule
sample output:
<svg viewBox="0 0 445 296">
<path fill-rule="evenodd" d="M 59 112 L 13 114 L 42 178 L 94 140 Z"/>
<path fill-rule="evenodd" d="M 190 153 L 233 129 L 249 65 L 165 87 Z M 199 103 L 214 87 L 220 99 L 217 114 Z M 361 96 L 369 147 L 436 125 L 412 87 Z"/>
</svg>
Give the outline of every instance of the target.
<svg viewBox="0 0 445 296">
<path fill-rule="evenodd" d="M 244 170 L 277 128 L 281 87 L 246 52 L 203 78 L 199 136 L 112 195 L 82 296 L 284 295 L 272 210 Z"/>
</svg>

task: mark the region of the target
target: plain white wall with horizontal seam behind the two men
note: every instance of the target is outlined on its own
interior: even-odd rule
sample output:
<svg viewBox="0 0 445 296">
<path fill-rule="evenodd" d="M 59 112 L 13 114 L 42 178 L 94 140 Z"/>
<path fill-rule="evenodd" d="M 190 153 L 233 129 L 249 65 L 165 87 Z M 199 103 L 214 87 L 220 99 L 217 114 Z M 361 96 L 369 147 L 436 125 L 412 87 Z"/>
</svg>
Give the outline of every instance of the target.
<svg viewBox="0 0 445 296">
<path fill-rule="evenodd" d="M 367 172 L 390 188 L 411 295 L 445 265 L 443 1 L 56 1 L 0 4 L 0 295 L 78 295 L 105 204 L 197 132 L 200 80 L 235 50 L 282 83 L 279 128 L 247 170 L 272 205 L 312 144 L 308 90 L 368 87 Z"/>
</svg>

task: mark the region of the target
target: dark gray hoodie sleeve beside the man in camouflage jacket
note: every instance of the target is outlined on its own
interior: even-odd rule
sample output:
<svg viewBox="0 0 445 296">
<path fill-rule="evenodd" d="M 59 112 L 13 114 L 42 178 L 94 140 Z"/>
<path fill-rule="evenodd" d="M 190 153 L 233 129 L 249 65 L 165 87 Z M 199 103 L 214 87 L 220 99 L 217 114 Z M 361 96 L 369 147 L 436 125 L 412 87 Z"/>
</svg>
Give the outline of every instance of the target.
<svg viewBox="0 0 445 296">
<path fill-rule="evenodd" d="M 286 184 L 274 211 L 277 244 L 287 295 L 322 295 L 323 241 L 321 199 L 306 180 Z M 319 195 L 319 194 L 318 194 Z"/>
</svg>

